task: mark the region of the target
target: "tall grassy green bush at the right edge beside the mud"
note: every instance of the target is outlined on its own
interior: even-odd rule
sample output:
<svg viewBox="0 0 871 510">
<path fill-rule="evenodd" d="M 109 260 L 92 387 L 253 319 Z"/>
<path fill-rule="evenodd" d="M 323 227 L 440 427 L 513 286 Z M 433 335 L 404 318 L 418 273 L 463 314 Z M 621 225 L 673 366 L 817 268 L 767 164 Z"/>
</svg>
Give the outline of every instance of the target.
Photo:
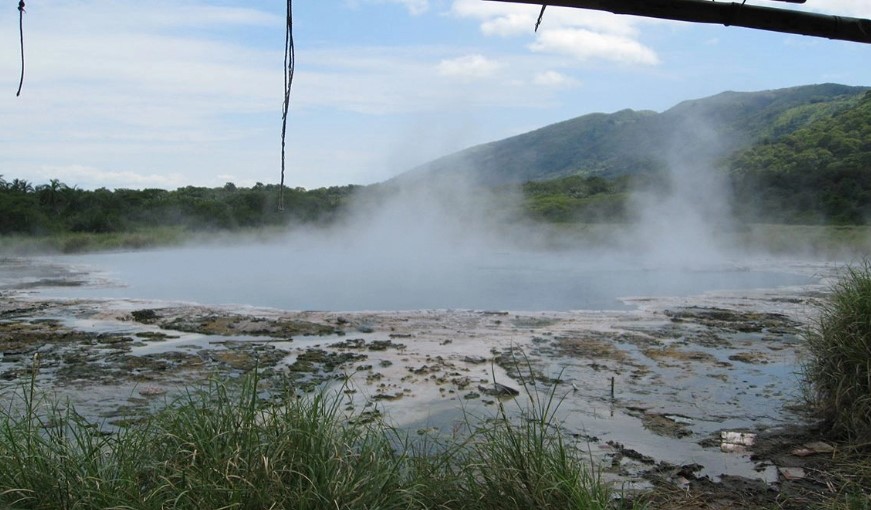
<svg viewBox="0 0 871 510">
<path fill-rule="evenodd" d="M 807 346 L 807 395 L 829 432 L 871 440 L 871 261 L 834 284 Z"/>
</svg>

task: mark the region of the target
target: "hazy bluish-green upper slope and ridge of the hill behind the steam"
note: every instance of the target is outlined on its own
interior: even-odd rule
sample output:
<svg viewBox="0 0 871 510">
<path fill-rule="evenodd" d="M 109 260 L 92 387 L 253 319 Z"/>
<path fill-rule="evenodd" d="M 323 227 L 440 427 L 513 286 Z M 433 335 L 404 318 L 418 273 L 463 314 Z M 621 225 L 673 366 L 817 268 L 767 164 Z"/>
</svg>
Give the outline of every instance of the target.
<svg viewBox="0 0 871 510">
<path fill-rule="evenodd" d="M 713 162 L 855 105 L 867 87 L 824 84 L 723 92 L 652 111 L 593 113 L 437 159 L 398 180 L 463 176 L 487 185 L 615 177 Z"/>
</svg>

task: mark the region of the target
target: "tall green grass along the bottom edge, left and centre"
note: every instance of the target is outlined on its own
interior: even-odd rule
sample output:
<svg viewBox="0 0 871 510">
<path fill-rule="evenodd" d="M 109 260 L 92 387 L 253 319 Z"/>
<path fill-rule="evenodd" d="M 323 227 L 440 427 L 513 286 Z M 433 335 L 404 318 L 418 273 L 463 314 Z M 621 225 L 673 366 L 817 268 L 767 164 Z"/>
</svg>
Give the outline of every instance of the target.
<svg viewBox="0 0 871 510">
<path fill-rule="evenodd" d="M 519 420 L 469 418 L 446 441 L 412 442 L 348 416 L 341 393 L 266 401 L 259 383 L 256 373 L 212 382 L 109 434 L 72 406 L 38 398 L 31 383 L 0 414 L 0 506 L 615 507 L 583 453 L 564 442 L 552 393 Z"/>
</svg>

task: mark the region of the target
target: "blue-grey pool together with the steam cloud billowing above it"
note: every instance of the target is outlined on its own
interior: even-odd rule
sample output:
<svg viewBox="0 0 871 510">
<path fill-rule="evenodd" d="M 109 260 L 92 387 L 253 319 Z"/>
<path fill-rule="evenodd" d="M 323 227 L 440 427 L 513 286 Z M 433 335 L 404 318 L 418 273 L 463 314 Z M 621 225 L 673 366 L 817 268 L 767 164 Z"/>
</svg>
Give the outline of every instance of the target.
<svg viewBox="0 0 871 510">
<path fill-rule="evenodd" d="M 708 235 L 704 222 L 716 202 L 685 202 L 684 190 L 699 199 L 703 179 L 674 179 L 665 199 L 648 203 L 652 219 L 616 234 L 603 225 L 604 237 L 522 221 L 519 197 L 454 178 L 392 183 L 361 194 L 336 225 L 279 239 L 74 257 L 68 260 L 103 269 L 123 286 L 52 294 L 287 310 L 559 311 L 625 308 L 618 298 L 628 296 L 807 281 L 736 272 L 721 264 L 724 257 L 712 264 L 713 243 L 695 236 Z"/>
</svg>

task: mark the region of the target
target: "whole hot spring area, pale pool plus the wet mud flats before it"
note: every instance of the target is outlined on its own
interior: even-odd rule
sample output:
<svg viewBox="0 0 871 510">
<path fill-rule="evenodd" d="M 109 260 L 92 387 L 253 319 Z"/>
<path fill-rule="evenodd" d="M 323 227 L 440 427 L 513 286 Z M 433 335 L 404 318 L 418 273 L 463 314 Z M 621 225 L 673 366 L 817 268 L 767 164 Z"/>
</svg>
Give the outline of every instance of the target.
<svg viewBox="0 0 871 510">
<path fill-rule="evenodd" d="M 351 353 L 310 376 L 351 374 L 356 412 L 450 434 L 463 413 L 494 412 L 494 379 L 519 386 L 510 365 L 493 363 L 520 352 L 559 376 L 565 430 L 617 486 L 643 488 L 650 473 L 671 472 L 663 466 L 773 483 L 778 466 L 721 444 L 721 433 L 800 421 L 789 408 L 800 331 L 834 269 L 286 243 L 0 259 L 0 333 L 39 339 L 0 352 L 0 394 L 28 373 L 33 349 L 40 387 L 110 422 L 256 357 L 284 373 L 303 355 Z M 341 332 L 282 329 L 296 321 Z"/>
</svg>

